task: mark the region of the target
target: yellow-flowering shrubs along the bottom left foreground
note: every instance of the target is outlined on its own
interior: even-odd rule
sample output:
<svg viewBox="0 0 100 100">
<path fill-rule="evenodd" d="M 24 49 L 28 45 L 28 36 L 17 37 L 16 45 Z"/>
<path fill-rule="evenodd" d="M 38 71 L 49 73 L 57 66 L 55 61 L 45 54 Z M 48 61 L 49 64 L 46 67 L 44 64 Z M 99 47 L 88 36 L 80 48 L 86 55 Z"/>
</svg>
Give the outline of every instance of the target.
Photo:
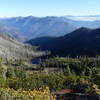
<svg viewBox="0 0 100 100">
<path fill-rule="evenodd" d="M 14 90 L 10 88 L 0 89 L 0 100 L 56 100 L 49 88 L 39 90 Z"/>
</svg>

